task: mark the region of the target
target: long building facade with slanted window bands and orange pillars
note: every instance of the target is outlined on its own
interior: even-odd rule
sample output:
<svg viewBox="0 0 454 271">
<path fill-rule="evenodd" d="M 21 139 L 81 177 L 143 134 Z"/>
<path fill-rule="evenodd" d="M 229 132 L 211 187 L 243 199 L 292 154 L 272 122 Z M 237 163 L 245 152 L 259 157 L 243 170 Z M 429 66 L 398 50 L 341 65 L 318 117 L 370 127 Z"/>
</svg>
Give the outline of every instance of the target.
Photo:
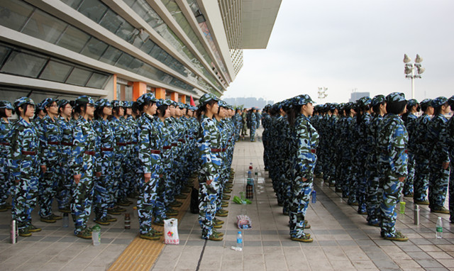
<svg viewBox="0 0 454 271">
<path fill-rule="evenodd" d="M 0 99 L 222 96 L 243 49 L 266 48 L 280 2 L 2 0 Z"/>
</svg>

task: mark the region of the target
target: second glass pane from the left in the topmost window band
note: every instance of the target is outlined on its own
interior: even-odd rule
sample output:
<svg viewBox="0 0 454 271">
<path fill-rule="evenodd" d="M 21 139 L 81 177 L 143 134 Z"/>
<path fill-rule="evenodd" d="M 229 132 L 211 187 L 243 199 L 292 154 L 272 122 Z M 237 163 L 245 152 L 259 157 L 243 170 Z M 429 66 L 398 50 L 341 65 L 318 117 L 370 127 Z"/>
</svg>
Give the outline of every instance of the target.
<svg viewBox="0 0 454 271">
<path fill-rule="evenodd" d="M 49 43 L 56 43 L 62 32 L 65 31 L 66 26 L 67 23 L 63 23 L 48 13 L 36 10 L 23 28 L 22 33 Z"/>
</svg>

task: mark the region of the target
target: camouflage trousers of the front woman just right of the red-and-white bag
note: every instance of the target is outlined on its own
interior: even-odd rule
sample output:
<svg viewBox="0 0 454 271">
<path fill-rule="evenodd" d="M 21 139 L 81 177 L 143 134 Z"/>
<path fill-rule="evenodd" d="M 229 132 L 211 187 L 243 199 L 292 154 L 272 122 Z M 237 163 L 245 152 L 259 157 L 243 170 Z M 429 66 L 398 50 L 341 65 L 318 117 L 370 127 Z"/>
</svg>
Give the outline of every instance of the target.
<svg viewBox="0 0 454 271">
<path fill-rule="evenodd" d="M 206 177 L 199 177 L 199 180 Z M 219 190 L 218 178 L 211 184 L 201 182 L 199 184 L 199 224 L 201 227 L 201 238 L 207 239 L 213 233 L 213 219 L 216 215 L 216 199 Z"/>
</svg>

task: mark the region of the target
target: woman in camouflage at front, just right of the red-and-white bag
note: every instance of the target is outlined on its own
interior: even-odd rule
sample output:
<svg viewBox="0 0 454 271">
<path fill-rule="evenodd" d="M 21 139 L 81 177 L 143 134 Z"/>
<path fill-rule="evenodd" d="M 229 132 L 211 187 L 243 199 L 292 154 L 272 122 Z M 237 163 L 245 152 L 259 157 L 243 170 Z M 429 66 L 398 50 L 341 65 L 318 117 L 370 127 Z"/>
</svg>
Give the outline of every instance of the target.
<svg viewBox="0 0 454 271">
<path fill-rule="evenodd" d="M 219 99 L 214 94 L 204 94 L 199 99 L 199 109 L 196 111 L 200 121 L 197 135 L 199 148 L 199 223 L 201 238 L 222 240 L 222 233 L 214 229 L 216 200 L 219 189 L 221 159 L 216 153 L 221 152 L 221 133 L 213 120 L 218 112 Z M 204 113 L 202 116 L 202 112 Z"/>
</svg>

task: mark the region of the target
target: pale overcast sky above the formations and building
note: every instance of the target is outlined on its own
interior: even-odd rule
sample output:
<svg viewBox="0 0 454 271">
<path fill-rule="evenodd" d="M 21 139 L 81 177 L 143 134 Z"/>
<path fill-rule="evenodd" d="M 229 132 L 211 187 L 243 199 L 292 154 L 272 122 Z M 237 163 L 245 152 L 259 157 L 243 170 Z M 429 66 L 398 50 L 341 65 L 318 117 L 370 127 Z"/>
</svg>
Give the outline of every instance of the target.
<svg viewBox="0 0 454 271">
<path fill-rule="evenodd" d="M 404 54 L 423 58 L 415 99 L 454 95 L 454 1 L 282 0 L 267 48 L 243 50 L 244 65 L 224 92 L 275 102 L 309 94 L 318 104 L 350 94 L 404 92 Z M 318 88 L 326 87 L 325 99 Z"/>
</svg>

